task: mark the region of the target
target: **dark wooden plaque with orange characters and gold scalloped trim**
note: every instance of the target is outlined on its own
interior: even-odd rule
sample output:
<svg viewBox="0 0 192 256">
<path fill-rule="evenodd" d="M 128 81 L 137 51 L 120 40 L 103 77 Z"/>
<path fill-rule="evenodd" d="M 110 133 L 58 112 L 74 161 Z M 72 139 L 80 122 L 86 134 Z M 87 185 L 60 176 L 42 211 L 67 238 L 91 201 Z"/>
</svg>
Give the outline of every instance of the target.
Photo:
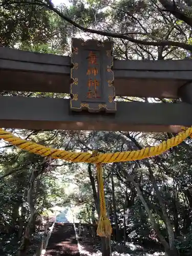
<svg viewBox="0 0 192 256">
<path fill-rule="evenodd" d="M 116 112 L 113 43 L 72 38 L 70 109 Z"/>
</svg>

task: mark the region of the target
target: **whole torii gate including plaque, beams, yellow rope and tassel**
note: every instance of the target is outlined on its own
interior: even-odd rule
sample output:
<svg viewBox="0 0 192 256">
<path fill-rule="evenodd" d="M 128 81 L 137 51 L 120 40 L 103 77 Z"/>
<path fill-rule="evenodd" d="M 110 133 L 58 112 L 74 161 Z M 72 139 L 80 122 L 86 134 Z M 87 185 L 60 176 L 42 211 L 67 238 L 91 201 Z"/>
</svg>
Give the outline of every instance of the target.
<svg viewBox="0 0 192 256">
<path fill-rule="evenodd" d="M 110 41 L 84 42 L 74 38 L 70 62 L 69 57 L 0 48 L 1 90 L 71 94 L 71 99 L 1 96 L 0 126 L 145 132 L 176 132 L 175 126 L 191 126 L 191 60 L 113 62 L 112 50 Z M 115 95 L 181 98 L 183 102 L 115 102 Z M 29 152 L 96 164 L 100 197 L 97 234 L 100 237 L 110 237 L 112 233 L 106 217 L 102 163 L 159 155 L 188 136 L 192 136 L 192 128 L 151 148 L 90 154 L 45 147 L 0 129 L 0 138 Z"/>
</svg>

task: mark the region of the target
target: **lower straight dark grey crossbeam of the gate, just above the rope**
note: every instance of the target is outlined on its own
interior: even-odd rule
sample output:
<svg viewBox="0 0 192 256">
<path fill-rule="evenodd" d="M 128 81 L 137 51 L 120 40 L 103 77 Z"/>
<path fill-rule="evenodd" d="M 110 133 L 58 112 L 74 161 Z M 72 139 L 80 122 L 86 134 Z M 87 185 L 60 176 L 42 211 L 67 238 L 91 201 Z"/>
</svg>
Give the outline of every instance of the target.
<svg viewBox="0 0 192 256">
<path fill-rule="evenodd" d="M 72 113 L 69 100 L 0 97 L 0 127 L 43 130 L 173 132 L 192 125 L 187 103 L 117 102 L 116 114 Z"/>
</svg>

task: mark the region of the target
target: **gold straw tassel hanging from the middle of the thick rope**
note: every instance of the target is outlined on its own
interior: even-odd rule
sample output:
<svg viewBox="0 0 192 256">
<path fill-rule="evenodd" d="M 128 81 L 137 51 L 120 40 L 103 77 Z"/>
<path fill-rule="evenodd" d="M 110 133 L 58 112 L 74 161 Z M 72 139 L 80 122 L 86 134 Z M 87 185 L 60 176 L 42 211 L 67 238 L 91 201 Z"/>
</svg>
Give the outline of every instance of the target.
<svg viewBox="0 0 192 256">
<path fill-rule="evenodd" d="M 104 185 L 102 178 L 102 165 L 98 163 L 97 165 L 97 179 L 99 185 L 99 200 L 100 200 L 100 218 L 97 227 L 97 234 L 99 237 L 111 237 L 112 227 L 110 220 L 106 217 L 106 206 L 104 199 Z"/>
</svg>

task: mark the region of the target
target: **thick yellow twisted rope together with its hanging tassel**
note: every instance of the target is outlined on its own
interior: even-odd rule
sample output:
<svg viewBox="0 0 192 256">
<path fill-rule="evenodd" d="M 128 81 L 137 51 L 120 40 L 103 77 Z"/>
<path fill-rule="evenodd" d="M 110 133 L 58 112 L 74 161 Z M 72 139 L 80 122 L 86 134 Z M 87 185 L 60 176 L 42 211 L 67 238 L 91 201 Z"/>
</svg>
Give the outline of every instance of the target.
<svg viewBox="0 0 192 256">
<path fill-rule="evenodd" d="M 99 198 L 100 198 L 100 218 L 97 228 L 97 234 L 100 237 L 109 237 L 112 233 L 111 223 L 108 218 L 106 218 L 106 207 L 104 200 L 104 186 L 102 179 L 102 166 L 101 163 L 114 163 L 114 162 L 125 162 L 125 161 L 135 161 L 141 160 L 148 157 L 153 157 L 161 155 L 163 152 L 169 150 L 169 148 L 179 145 L 188 136 L 192 137 L 192 127 L 186 129 L 182 128 L 184 131 L 179 133 L 177 136 L 163 141 L 157 146 L 145 147 L 142 150 L 137 151 L 126 151 L 126 152 L 116 152 L 116 153 L 76 153 L 69 152 L 65 150 L 58 150 L 57 148 L 46 147 L 39 145 L 37 143 L 20 139 L 19 137 L 0 129 L 0 139 L 16 145 L 22 150 L 26 150 L 30 153 L 36 155 L 51 157 L 54 159 L 62 159 L 70 162 L 85 162 L 85 163 L 95 163 L 97 165 L 97 178 L 99 184 Z"/>
</svg>

